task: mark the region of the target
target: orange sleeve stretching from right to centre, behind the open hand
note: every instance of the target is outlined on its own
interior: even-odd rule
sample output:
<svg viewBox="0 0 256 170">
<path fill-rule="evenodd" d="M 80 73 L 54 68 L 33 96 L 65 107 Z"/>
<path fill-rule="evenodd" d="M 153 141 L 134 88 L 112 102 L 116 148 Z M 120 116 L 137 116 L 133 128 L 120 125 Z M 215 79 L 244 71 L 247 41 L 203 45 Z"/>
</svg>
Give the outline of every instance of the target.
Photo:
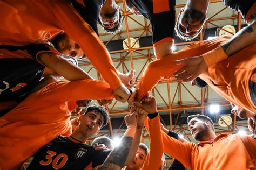
<svg viewBox="0 0 256 170">
<path fill-rule="evenodd" d="M 154 60 L 147 65 L 139 82 L 138 98 L 141 99 L 149 95 L 149 91 L 161 80 L 161 77 L 173 77 L 173 72 L 182 68 L 184 65 L 175 65 L 174 60 L 181 60 L 193 56 L 203 55 L 208 51 L 220 46 L 227 41 L 225 38 L 216 38 L 213 40 L 205 40 L 196 44 L 187 46 L 183 50 L 166 55 L 162 59 Z"/>
</svg>

